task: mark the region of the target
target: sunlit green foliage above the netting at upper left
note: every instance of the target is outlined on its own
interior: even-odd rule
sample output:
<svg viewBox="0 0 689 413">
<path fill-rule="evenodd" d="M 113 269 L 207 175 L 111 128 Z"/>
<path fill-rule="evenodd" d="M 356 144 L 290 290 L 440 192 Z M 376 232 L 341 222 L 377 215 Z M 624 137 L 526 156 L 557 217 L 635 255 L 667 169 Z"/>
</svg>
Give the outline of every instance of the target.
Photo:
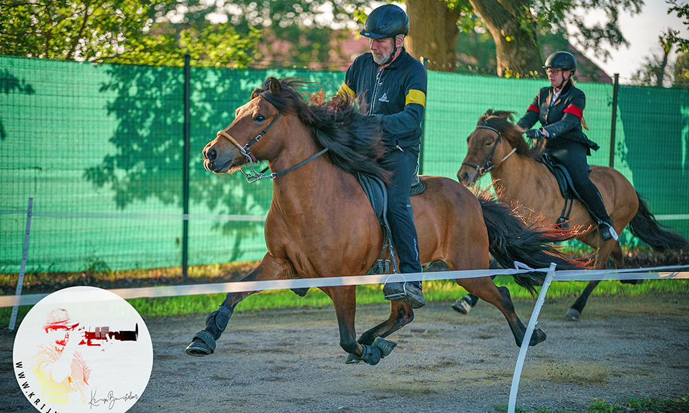
<svg viewBox="0 0 689 413">
<path fill-rule="evenodd" d="M 0 8 L 0 54 L 94 63 L 247 67 L 260 32 L 212 25 L 193 6 L 152 0 L 9 0 Z M 189 10 L 194 19 L 185 18 Z M 205 16 L 203 16 L 205 17 Z M 172 23 L 177 19 L 178 23 Z"/>
</svg>

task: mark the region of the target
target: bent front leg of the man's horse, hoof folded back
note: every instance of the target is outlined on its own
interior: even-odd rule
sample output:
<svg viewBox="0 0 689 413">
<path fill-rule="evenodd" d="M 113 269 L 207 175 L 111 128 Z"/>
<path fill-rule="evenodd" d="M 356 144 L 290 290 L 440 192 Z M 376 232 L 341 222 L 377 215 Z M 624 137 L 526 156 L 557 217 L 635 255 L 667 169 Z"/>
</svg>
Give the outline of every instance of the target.
<svg viewBox="0 0 689 413">
<path fill-rule="evenodd" d="M 378 339 L 375 343 L 360 344 L 356 341 L 354 315 L 356 313 L 356 286 L 321 288 L 332 300 L 340 327 L 340 347 L 352 354 L 356 361 L 366 361 L 371 366 L 390 354 L 395 347 L 391 341 Z"/>
</svg>

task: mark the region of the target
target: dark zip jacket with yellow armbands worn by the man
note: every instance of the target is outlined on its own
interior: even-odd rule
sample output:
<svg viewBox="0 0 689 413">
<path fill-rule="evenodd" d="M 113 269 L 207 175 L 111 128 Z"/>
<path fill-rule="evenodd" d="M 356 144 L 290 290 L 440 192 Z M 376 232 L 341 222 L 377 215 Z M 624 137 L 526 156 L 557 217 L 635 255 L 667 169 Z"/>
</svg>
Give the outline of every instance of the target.
<svg viewBox="0 0 689 413">
<path fill-rule="evenodd" d="M 382 118 L 384 145 L 415 148 L 418 153 L 426 106 L 426 69 L 404 47 L 380 73 L 378 67 L 371 53 L 356 58 L 338 94 L 363 98 L 368 114 Z"/>
</svg>

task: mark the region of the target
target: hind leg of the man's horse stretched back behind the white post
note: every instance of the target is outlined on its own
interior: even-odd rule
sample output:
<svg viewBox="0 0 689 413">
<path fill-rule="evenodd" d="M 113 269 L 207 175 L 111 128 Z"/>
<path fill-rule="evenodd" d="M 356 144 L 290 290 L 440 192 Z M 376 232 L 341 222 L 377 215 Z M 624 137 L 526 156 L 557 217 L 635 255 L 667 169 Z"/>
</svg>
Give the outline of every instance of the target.
<svg viewBox="0 0 689 413">
<path fill-rule="evenodd" d="M 522 346 L 524 335 L 526 334 L 526 327 L 515 313 L 515 306 L 510 297 L 510 292 L 506 287 L 497 287 L 493 284 L 490 277 L 480 278 L 460 278 L 457 279 L 457 284 L 464 287 L 469 293 L 476 295 L 480 299 L 493 304 L 507 319 L 507 323 L 512 330 L 517 346 Z M 546 333 L 539 328 L 533 331 L 531 339 L 528 342 L 529 346 L 536 344 L 546 339 Z"/>
</svg>

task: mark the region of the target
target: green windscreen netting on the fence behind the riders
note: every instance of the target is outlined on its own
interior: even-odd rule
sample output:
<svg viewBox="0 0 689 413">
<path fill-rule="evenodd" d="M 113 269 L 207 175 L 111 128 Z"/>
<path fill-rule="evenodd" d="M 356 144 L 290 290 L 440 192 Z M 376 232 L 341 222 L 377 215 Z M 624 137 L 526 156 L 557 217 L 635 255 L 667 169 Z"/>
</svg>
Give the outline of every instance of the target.
<svg viewBox="0 0 689 413">
<path fill-rule="evenodd" d="M 343 72 L 191 70 L 189 264 L 258 260 L 271 182 L 215 176 L 200 151 L 269 75 L 336 92 Z M 544 81 L 429 72 L 423 173 L 456 179 L 486 109 L 522 116 Z M 613 86 L 586 92 L 589 158 L 608 165 Z M 0 57 L 0 272 L 181 264 L 183 70 Z M 661 223 L 689 236 L 689 91 L 620 87 L 615 168 Z M 484 182 L 486 183 L 486 182 Z M 220 218 L 218 218 L 220 215 Z M 626 244 L 637 241 L 629 234 Z"/>
</svg>

